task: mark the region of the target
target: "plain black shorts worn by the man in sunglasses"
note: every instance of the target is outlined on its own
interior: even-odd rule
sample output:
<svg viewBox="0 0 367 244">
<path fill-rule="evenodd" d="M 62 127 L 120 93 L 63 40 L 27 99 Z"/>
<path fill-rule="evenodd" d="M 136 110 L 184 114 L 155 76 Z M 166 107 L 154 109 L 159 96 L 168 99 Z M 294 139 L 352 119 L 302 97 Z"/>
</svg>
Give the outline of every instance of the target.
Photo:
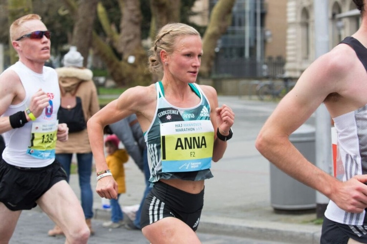
<svg viewBox="0 0 367 244">
<path fill-rule="evenodd" d="M 54 161 L 41 168 L 21 168 L 0 161 L 0 202 L 12 211 L 29 210 L 55 183 L 66 180 L 61 164 Z"/>
</svg>

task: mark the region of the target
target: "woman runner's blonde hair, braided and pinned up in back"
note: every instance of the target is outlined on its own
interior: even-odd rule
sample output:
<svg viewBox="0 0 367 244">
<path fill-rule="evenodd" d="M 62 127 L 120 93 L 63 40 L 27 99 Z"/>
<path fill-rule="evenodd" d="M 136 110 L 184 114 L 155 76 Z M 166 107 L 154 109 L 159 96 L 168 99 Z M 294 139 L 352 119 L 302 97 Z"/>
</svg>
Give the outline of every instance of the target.
<svg viewBox="0 0 367 244">
<path fill-rule="evenodd" d="M 183 23 L 169 23 L 164 25 L 158 32 L 149 52 L 149 71 L 159 74 L 162 71 L 161 50 L 168 54 L 173 53 L 176 38 L 184 35 L 199 36 L 200 33 L 193 27 Z"/>
</svg>

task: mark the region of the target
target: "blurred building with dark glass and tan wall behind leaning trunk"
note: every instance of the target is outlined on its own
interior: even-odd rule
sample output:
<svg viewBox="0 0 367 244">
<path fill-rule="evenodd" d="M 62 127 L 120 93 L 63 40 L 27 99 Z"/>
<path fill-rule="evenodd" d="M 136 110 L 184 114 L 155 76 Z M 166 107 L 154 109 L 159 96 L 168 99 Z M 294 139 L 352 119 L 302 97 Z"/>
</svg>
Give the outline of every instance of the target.
<svg viewBox="0 0 367 244">
<path fill-rule="evenodd" d="M 197 0 L 190 20 L 206 25 L 218 0 Z M 214 78 L 262 78 L 284 73 L 287 0 L 236 0 L 227 33 L 217 43 Z M 206 14 L 207 13 L 207 14 Z"/>
</svg>

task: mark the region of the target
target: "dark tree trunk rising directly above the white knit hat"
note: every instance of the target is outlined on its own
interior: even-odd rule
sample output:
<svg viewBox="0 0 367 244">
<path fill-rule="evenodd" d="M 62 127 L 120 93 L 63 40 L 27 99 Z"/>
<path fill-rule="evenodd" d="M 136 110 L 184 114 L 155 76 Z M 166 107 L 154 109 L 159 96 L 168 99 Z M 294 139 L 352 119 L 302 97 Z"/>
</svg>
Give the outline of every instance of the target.
<svg viewBox="0 0 367 244">
<path fill-rule="evenodd" d="M 92 45 L 92 26 L 96 15 L 98 0 L 80 0 L 71 44 L 78 48 L 87 66 L 89 49 Z"/>
</svg>

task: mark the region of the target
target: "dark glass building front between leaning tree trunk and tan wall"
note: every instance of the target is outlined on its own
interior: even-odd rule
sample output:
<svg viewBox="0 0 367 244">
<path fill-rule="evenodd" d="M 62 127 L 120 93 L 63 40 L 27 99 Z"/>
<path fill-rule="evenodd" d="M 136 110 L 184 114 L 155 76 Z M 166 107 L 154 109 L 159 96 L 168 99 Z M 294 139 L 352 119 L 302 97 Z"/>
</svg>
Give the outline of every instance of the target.
<svg viewBox="0 0 367 244">
<path fill-rule="evenodd" d="M 209 10 L 218 0 L 209 0 Z M 236 0 L 227 33 L 218 40 L 212 67 L 213 78 L 263 76 L 264 0 Z"/>
</svg>

